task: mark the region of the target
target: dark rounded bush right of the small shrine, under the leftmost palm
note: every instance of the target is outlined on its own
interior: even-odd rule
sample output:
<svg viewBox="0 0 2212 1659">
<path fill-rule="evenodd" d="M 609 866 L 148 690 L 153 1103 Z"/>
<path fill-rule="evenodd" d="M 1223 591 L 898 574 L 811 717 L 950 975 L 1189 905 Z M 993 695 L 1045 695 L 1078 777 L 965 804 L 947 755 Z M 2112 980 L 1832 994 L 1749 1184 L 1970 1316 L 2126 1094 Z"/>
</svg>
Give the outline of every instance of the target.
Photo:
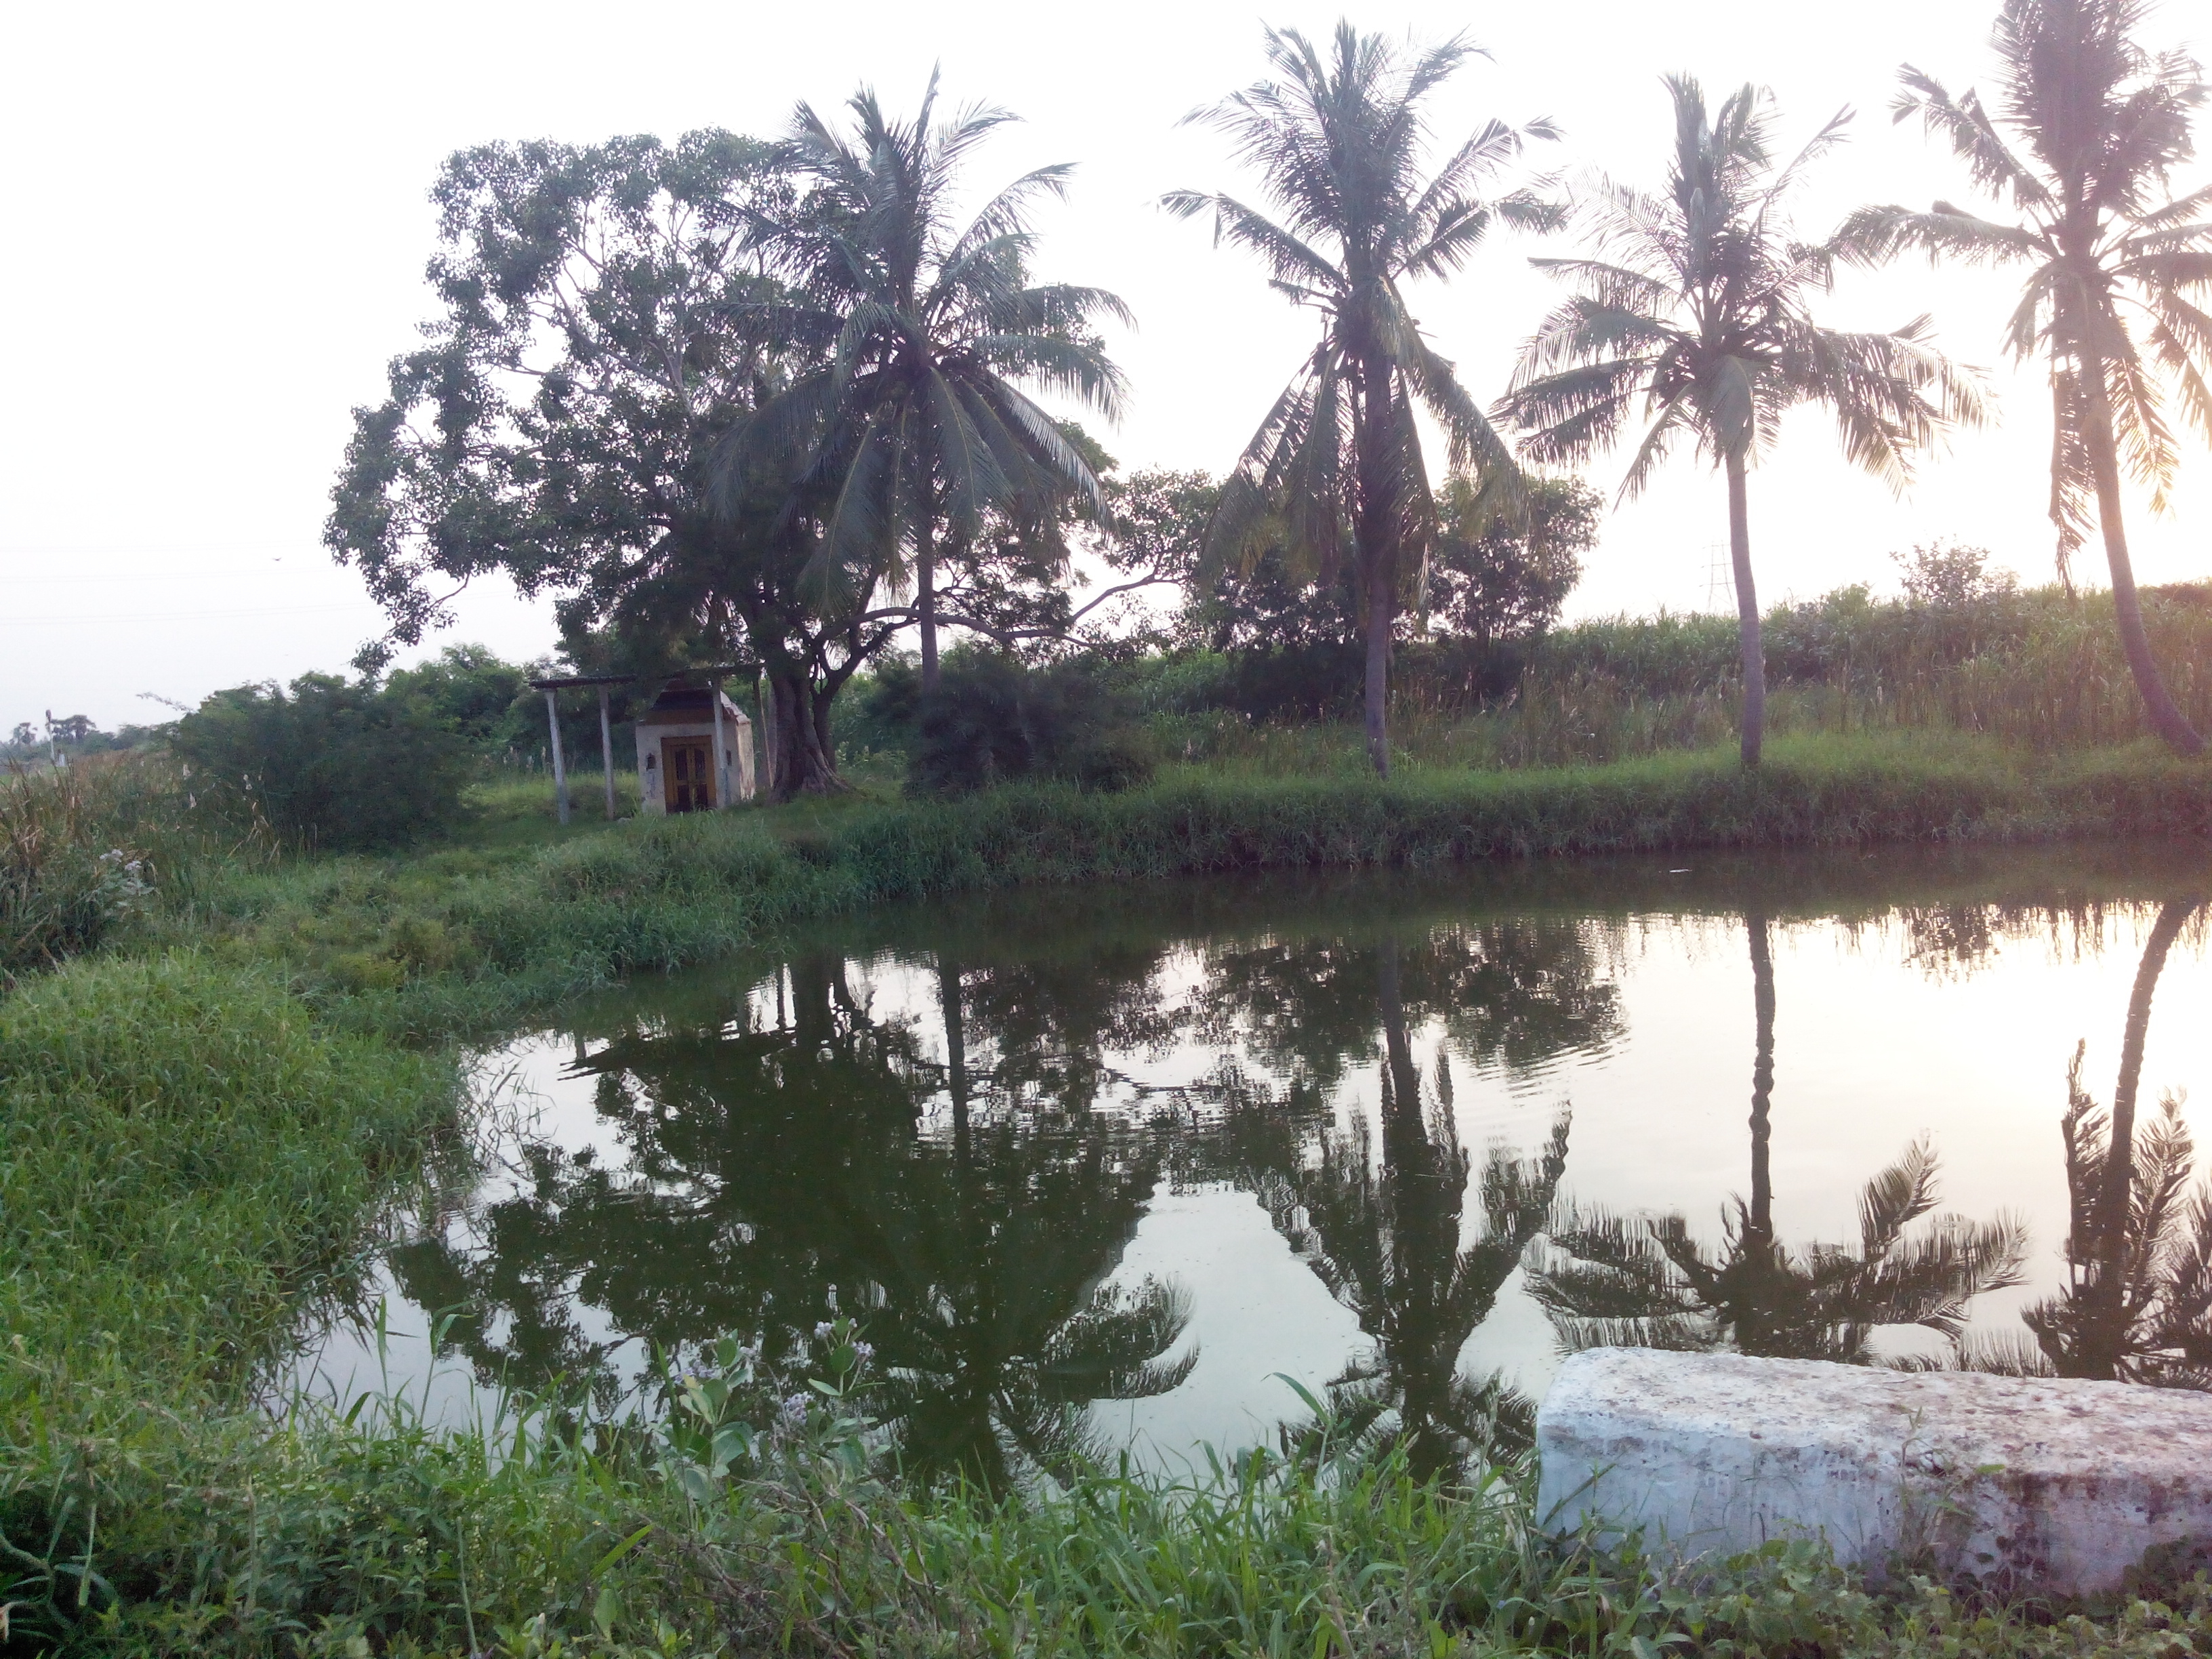
<svg viewBox="0 0 2212 1659">
<path fill-rule="evenodd" d="M 914 794 L 967 794 L 1013 779 L 1124 790 L 1150 774 L 1128 697 L 1095 664 L 1026 668 L 1013 657 L 958 650 L 916 706 L 907 759 Z"/>
</svg>

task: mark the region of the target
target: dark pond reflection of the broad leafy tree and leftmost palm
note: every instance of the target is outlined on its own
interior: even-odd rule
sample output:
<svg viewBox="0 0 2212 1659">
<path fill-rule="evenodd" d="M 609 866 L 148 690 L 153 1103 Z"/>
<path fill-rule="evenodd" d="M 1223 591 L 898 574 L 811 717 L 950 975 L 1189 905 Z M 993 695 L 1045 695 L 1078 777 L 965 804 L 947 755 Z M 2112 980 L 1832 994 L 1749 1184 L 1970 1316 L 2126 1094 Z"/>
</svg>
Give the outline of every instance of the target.
<svg viewBox="0 0 2212 1659">
<path fill-rule="evenodd" d="M 960 1031 L 960 973 L 940 978 Z M 832 1305 L 863 1318 L 916 1475 L 1002 1480 L 1079 1444 L 1095 1398 L 1175 1387 L 1164 1363 L 1186 1310 L 1157 1283 L 1106 1287 L 1157 1181 L 1146 1124 L 1044 1108 L 971 1121 L 953 1068 L 953 1135 L 918 1133 L 947 1082 L 911 1022 L 876 1022 L 843 962 L 790 969 L 787 1013 L 752 1004 L 706 1031 L 633 1033 L 582 1062 L 628 1152 L 622 1170 L 533 1155 L 531 1188 L 491 1206 L 484 1248 L 425 1239 L 396 1252 L 425 1307 L 465 1305 L 456 1329 L 480 1376 L 588 1380 L 619 1394 L 619 1340 L 684 1354 L 726 1332 L 792 1352 Z M 498 1332 L 498 1336 L 493 1336 Z"/>
</svg>

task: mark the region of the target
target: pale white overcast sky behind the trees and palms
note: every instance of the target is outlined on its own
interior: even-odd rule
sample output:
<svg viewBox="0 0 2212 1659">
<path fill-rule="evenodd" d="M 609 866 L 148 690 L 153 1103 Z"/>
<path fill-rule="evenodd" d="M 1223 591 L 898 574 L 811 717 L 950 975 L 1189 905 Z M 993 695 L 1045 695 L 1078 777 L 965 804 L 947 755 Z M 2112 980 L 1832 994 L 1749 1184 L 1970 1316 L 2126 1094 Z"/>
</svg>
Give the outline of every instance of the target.
<svg viewBox="0 0 2212 1659">
<path fill-rule="evenodd" d="M 796 100 L 860 82 L 907 111 L 931 64 L 947 95 L 1024 117 L 975 164 L 978 190 L 1075 161 L 1044 219 L 1048 276 L 1119 292 L 1139 327 L 1113 349 L 1128 420 L 1102 438 L 1124 465 L 1228 467 L 1292 374 L 1314 319 L 1248 257 L 1175 223 L 1175 186 L 1252 181 L 1221 137 L 1179 128 L 1261 71 L 1261 20 L 1327 31 L 1334 7 L 1283 4 L 55 4 L 11 9 L 0 73 L 9 157 L 9 319 L 0 400 L 0 728 L 84 712 L 164 717 L 219 686 L 341 668 L 378 630 L 358 577 L 321 549 L 349 409 L 429 316 L 427 188 L 440 159 L 487 139 L 783 128 Z M 1484 115 L 1557 119 L 1548 168 L 1657 184 L 1659 75 L 1772 86 L 1794 144 L 1836 106 L 1856 137 L 1812 179 L 1798 223 L 1825 232 L 1867 199 L 1962 192 L 1918 126 L 1891 126 L 1900 62 L 1953 86 L 1989 75 L 1989 0 L 1553 0 L 1469 9 L 1378 0 L 1365 29 L 1453 31 L 1493 55 L 1436 104 L 1438 142 Z M 2168 4 L 2157 40 L 2203 31 Z M 2208 139 L 2212 142 L 2212 139 Z M 1553 290 L 1526 241 L 1500 241 L 1416 310 L 1489 400 Z M 1889 553 L 1953 538 L 2026 575 L 2051 571 L 2042 380 L 2000 361 L 2004 274 L 1905 265 L 1851 276 L 1827 303 L 1845 327 L 1933 312 L 1953 356 L 1989 365 L 2002 420 L 1931 458 L 1905 500 L 1854 473 L 1829 427 L 1801 416 L 1752 480 L 1763 595 L 1893 582 Z M 1610 491 L 1615 469 L 1593 473 Z M 2212 465 L 2192 458 L 2177 515 L 2130 526 L 2146 582 L 2212 573 Z M 1697 608 L 1725 544 L 1721 487 L 1688 456 L 1615 511 L 1579 615 Z M 2084 555 L 2097 575 L 2101 557 Z M 544 602 L 471 591 L 434 646 L 551 648 Z"/>
</svg>

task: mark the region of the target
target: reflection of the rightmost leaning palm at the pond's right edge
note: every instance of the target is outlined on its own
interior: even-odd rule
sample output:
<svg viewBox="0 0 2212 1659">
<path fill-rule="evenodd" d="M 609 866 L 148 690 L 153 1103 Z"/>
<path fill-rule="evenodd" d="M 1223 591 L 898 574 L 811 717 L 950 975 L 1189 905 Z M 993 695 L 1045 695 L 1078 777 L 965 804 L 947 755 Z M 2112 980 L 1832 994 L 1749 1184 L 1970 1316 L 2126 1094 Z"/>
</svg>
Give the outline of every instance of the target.
<svg viewBox="0 0 2212 1659">
<path fill-rule="evenodd" d="M 2086 1044 L 2066 1071 L 2066 1287 L 2031 1310 L 2028 1343 L 1986 1343 L 1982 1369 L 2212 1389 L 2212 1181 L 2190 1192 L 2197 1146 L 2172 1093 L 2135 1126 L 2150 1000 L 2201 898 L 2159 907 L 2128 995 L 2112 1110 L 2081 1086 Z"/>
</svg>

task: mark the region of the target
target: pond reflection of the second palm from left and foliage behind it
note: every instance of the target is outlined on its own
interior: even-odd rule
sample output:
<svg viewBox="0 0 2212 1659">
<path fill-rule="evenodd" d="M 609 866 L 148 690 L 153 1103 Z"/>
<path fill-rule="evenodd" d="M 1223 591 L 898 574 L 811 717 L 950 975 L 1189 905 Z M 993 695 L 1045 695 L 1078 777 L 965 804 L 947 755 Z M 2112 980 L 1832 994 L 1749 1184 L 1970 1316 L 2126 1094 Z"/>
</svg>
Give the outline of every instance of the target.
<svg viewBox="0 0 2212 1659">
<path fill-rule="evenodd" d="M 1287 1075 L 1279 1102 L 1250 1110 L 1250 1079 L 1217 1133 L 1243 1159 L 1230 1179 L 1256 1190 L 1274 1228 L 1369 1338 L 1327 1387 L 1327 1425 L 1285 1425 L 1314 1451 L 1402 1444 L 1420 1473 L 1460 1471 L 1533 1433 L 1533 1409 L 1500 1376 L 1471 1378 L 1460 1354 L 1551 1214 L 1566 1168 L 1562 1115 L 1542 1152 L 1491 1148 L 1473 1179 L 1480 1232 L 1462 1245 L 1473 1159 L 1460 1141 L 1451 1046 L 1513 1071 L 1619 1029 L 1615 991 L 1595 975 L 1582 929 L 1504 920 L 1433 929 L 1413 949 L 1276 940 L 1225 953 L 1208 978 L 1208 1020 Z M 1413 1031 L 1444 1029 L 1425 1079 Z M 1365 1117 L 1325 1110 L 1352 1055 L 1380 1037 L 1380 1148 Z M 1301 1110 L 1303 1108 L 1303 1110 Z M 1305 1133 L 1292 1130 L 1303 1124 Z"/>
</svg>

